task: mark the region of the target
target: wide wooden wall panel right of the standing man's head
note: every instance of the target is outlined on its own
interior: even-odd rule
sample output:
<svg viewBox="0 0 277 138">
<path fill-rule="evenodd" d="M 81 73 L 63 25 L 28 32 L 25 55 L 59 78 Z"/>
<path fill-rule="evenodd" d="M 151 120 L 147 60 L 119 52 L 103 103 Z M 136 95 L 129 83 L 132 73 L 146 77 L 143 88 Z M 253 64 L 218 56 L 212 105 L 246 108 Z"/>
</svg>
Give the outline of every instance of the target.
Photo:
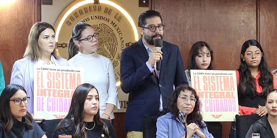
<svg viewBox="0 0 277 138">
<path fill-rule="evenodd" d="M 256 39 L 256 0 L 152 0 L 163 17 L 164 40 L 179 46 L 185 68 L 193 43 L 206 41 L 214 51 L 215 70 L 239 67 L 240 49 Z M 228 137 L 231 122 L 222 122 Z"/>
</svg>

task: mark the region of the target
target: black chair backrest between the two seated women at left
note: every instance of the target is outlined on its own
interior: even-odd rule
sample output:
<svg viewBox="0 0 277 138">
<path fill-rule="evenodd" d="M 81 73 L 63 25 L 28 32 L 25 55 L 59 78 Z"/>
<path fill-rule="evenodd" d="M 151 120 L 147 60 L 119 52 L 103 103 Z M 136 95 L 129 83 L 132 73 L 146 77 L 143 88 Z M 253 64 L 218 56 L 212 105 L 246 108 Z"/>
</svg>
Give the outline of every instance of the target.
<svg viewBox="0 0 277 138">
<path fill-rule="evenodd" d="M 50 138 L 61 120 L 62 119 L 42 120 L 40 127 L 45 132 L 45 135 Z"/>
</svg>

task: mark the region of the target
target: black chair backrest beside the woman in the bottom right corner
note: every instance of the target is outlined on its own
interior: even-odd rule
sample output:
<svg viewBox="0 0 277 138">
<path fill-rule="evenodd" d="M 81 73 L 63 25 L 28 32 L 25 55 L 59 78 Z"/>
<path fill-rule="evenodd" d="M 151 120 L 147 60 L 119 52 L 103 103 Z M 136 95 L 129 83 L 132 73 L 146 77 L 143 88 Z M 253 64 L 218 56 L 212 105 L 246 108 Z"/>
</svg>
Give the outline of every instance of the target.
<svg viewBox="0 0 277 138">
<path fill-rule="evenodd" d="M 236 115 L 236 133 L 237 138 L 245 138 L 252 124 L 258 121 L 261 117 L 258 115 Z"/>
</svg>

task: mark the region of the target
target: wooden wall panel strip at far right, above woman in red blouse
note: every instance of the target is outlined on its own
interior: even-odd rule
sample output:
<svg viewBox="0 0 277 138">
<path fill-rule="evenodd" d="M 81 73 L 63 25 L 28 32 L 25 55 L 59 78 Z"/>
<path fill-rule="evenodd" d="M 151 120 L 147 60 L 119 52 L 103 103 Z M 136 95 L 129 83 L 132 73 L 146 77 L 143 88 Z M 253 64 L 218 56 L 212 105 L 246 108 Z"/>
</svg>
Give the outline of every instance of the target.
<svg viewBox="0 0 277 138">
<path fill-rule="evenodd" d="M 268 68 L 276 68 L 277 51 L 277 1 L 260 0 L 260 44 L 263 47 Z"/>
</svg>

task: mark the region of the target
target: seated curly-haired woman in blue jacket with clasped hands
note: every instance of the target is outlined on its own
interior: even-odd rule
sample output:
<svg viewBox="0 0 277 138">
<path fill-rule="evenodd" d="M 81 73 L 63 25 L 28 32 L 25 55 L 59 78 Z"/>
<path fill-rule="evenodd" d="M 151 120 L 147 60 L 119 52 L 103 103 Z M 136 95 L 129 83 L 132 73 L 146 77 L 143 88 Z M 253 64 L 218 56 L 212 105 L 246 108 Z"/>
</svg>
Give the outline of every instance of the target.
<svg viewBox="0 0 277 138">
<path fill-rule="evenodd" d="M 200 114 L 200 101 L 196 91 L 187 85 L 175 88 L 169 97 L 164 112 L 157 120 L 157 138 L 185 138 L 184 125 L 178 112 L 185 114 L 187 138 L 213 138 Z"/>
</svg>

